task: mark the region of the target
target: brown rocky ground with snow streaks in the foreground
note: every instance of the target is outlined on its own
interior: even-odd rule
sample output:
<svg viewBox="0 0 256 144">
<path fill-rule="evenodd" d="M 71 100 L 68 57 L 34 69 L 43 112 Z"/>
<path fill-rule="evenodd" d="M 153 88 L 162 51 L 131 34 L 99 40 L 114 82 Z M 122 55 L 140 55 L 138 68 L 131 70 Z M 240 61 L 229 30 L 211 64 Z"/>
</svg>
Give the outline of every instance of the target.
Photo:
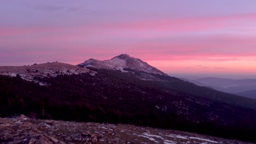
<svg viewBox="0 0 256 144">
<path fill-rule="evenodd" d="M 174 130 L 126 124 L 0 118 L 0 143 L 246 143 Z"/>
</svg>

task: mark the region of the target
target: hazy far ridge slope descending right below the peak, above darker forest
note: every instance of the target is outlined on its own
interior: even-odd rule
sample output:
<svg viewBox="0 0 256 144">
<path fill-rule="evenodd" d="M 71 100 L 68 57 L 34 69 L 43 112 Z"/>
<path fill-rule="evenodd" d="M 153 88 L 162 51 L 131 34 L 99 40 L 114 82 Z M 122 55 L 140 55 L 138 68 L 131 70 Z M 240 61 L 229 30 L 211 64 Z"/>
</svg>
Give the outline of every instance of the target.
<svg viewBox="0 0 256 144">
<path fill-rule="evenodd" d="M 235 94 L 229 94 L 224 92 L 219 92 L 213 88 L 208 88 L 205 86 L 197 86 L 194 83 L 183 81 L 176 77 L 150 74 L 143 71 L 137 71 L 132 69 L 125 69 L 130 71 L 130 75 L 136 76 L 138 79 L 146 80 L 149 86 L 161 89 L 162 91 L 168 92 L 170 89 L 179 91 L 182 93 L 192 94 L 199 97 L 211 99 L 213 101 L 219 101 L 221 103 L 228 103 L 231 105 L 248 107 L 251 109 L 256 109 L 256 101 L 241 97 Z"/>
</svg>

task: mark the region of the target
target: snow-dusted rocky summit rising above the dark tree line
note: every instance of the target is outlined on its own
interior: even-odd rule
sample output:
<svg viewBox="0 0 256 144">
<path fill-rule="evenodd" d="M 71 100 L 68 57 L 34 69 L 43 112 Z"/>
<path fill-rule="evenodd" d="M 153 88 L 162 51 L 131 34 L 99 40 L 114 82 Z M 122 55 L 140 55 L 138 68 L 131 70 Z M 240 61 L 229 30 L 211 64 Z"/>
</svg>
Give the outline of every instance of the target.
<svg viewBox="0 0 256 144">
<path fill-rule="evenodd" d="M 78 66 L 84 68 L 92 67 L 101 69 L 121 70 L 123 72 L 126 72 L 124 68 L 129 68 L 133 70 L 144 71 L 146 73 L 167 75 L 162 71 L 152 67 L 148 63 L 141 61 L 141 59 L 131 57 L 127 54 L 121 54 L 105 61 L 99 61 L 97 59 L 91 58 L 84 63 L 78 64 Z"/>
</svg>

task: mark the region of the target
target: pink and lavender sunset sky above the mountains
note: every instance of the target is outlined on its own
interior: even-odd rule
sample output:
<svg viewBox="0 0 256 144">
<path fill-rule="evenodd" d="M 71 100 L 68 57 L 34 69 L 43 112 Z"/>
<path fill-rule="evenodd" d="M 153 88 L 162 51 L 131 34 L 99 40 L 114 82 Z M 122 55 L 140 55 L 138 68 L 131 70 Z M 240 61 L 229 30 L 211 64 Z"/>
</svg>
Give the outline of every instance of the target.
<svg viewBox="0 0 256 144">
<path fill-rule="evenodd" d="M 110 59 L 165 73 L 256 74 L 255 0 L 1 0 L 0 65 Z"/>
</svg>

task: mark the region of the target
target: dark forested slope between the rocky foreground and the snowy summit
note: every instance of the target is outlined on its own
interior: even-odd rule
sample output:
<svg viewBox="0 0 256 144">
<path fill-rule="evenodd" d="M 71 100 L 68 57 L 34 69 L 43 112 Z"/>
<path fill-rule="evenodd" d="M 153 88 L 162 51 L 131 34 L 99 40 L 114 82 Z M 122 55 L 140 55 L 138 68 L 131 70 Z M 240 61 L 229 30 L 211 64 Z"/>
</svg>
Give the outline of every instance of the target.
<svg viewBox="0 0 256 144">
<path fill-rule="evenodd" d="M 253 109 L 175 89 L 167 92 L 153 81 L 121 71 L 99 69 L 94 76 L 58 75 L 37 81 L 48 85 L 0 76 L 0 116 L 24 113 L 34 118 L 144 125 L 243 141 L 253 141 L 256 133 Z"/>
</svg>

